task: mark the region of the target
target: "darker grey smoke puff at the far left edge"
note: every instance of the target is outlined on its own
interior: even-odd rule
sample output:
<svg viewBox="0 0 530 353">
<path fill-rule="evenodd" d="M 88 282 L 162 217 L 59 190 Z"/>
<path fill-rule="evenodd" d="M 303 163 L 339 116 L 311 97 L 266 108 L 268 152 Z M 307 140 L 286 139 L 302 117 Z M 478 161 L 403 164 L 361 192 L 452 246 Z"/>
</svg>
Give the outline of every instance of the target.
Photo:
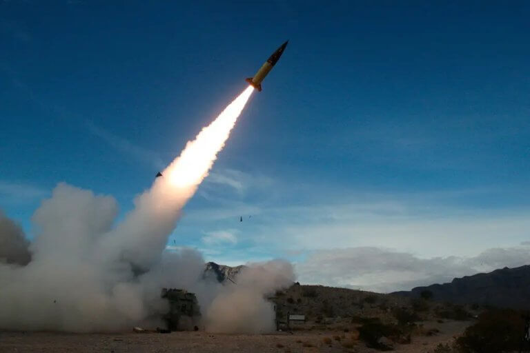
<svg viewBox="0 0 530 353">
<path fill-rule="evenodd" d="M 0 210 L 0 263 L 27 265 L 31 261 L 29 245 L 22 228 Z"/>
</svg>

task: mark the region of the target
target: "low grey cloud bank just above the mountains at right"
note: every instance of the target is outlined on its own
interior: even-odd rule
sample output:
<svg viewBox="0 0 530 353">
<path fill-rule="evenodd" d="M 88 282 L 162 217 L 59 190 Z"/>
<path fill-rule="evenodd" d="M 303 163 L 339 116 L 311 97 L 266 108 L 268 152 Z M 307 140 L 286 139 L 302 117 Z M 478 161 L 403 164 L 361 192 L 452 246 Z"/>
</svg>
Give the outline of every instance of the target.
<svg viewBox="0 0 530 353">
<path fill-rule="evenodd" d="M 297 263 L 302 283 L 318 283 L 376 292 L 411 290 L 446 283 L 455 277 L 527 265 L 530 247 L 492 248 L 477 256 L 421 259 L 409 252 L 376 247 L 317 250 Z"/>
</svg>

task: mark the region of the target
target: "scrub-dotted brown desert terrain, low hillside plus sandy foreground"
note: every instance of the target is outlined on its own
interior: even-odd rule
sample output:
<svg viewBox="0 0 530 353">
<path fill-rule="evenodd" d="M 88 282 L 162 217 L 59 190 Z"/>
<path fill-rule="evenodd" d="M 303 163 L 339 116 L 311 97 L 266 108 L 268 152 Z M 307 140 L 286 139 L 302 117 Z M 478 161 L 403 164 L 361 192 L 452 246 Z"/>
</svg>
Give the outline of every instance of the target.
<svg viewBox="0 0 530 353">
<path fill-rule="evenodd" d="M 518 312 L 480 314 L 483 307 L 437 303 L 430 297 L 295 285 L 274 300 L 284 315 L 305 314 L 307 321 L 293 326 L 293 332 L 267 335 L 0 332 L 0 352 L 500 353 L 518 345 L 522 332 Z"/>
</svg>

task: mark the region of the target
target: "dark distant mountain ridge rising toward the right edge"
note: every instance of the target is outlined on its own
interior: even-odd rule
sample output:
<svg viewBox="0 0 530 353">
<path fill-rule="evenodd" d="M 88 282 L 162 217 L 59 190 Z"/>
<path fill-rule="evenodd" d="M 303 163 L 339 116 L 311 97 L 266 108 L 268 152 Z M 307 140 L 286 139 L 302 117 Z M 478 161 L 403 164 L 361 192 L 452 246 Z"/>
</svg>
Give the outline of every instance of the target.
<svg viewBox="0 0 530 353">
<path fill-rule="evenodd" d="M 393 294 L 419 297 L 424 290 L 430 290 L 437 301 L 530 310 L 530 265 L 464 276 L 451 283 L 416 287 L 410 292 Z"/>
</svg>

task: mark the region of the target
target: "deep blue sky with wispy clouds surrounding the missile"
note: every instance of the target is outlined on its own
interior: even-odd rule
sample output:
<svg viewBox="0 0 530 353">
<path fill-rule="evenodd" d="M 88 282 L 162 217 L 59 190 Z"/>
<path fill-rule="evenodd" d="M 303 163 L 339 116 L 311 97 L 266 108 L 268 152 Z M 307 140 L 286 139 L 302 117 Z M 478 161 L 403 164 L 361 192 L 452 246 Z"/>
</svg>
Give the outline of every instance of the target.
<svg viewBox="0 0 530 353">
<path fill-rule="evenodd" d="M 229 264 L 519 254 L 529 18 L 527 1 L 1 1 L 0 208 L 31 238 L 64 181 L 123 215 L 289 39 L 168 245 Z"/>
</svg>

